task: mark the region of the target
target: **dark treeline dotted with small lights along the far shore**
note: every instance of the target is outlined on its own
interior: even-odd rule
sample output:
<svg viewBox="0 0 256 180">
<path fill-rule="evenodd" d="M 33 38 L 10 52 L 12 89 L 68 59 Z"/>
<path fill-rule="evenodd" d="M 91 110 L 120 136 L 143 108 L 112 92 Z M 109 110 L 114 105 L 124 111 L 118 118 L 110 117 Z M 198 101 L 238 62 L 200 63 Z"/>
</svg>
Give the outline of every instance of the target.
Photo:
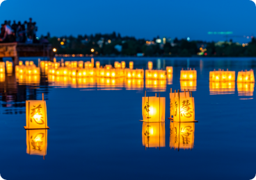
<svg viewBox="0 0 256 180">
<path fill-rule="evenodd" d="M 102 56 L 168 56 L 191 57 L 201 53 L 206 57 L 256 57 L 256 40 L 253 38 L 248 44 L 223 42 L 187 41 L 187 39 L 166 39 L 163 44 L 157 43 L 159 37 L 152 40 L 136 39 L 135 37 L 121 37 L 114 33 L 95 35 L 78 35 L 49 37 L 49 42 L 57 49 L 57 54 L 93 54 Z M 203 48 L 202 48 L 203 47 Z M 201 50 L 200 50 L 201 48 Z M 92 52 L 92 49 L 94 50 Z"/>
</svg>

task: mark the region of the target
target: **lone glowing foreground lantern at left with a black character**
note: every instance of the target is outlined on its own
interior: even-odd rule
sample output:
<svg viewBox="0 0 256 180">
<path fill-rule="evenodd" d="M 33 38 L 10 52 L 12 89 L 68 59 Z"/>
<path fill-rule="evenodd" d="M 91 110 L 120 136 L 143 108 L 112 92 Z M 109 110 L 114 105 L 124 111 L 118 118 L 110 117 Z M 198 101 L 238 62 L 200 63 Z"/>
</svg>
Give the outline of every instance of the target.
<svg viewBox="0 0 256 180">
<path fill-rule="evenodd" d="M 42 94 L 42 100 L 26 100 L 26 126 L 24 128 L 49 129 L 44 94 Z"/>
</svg>

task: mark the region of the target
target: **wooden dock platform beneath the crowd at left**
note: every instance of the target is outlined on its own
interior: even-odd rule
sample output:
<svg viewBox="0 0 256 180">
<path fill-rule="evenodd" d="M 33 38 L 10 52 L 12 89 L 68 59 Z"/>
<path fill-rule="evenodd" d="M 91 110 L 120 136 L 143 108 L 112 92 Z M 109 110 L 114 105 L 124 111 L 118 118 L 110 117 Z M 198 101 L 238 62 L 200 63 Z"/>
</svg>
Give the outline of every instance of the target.
<svg viewBox="0 0 256 180">
<path fill-rule="evenodd" d="M 0 43 L 0 60 L 12 57 L 15 65 L 19 63 L 19 57 L 47 57 L 53 61 L 54 56 L 51 44 Z"/>
</svg>

